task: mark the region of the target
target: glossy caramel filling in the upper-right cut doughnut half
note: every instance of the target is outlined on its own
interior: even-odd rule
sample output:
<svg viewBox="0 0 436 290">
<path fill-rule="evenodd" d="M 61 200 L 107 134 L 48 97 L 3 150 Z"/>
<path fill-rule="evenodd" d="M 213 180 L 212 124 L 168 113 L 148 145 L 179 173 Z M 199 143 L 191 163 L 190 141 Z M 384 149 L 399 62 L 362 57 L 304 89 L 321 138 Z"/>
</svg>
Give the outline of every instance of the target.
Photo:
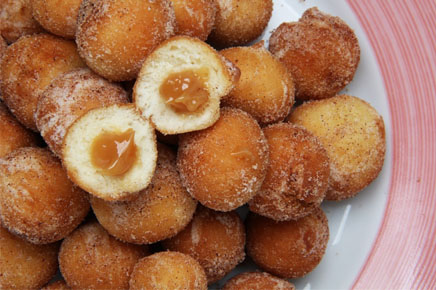
<svg viewBox="0 0 436 290">
<path fill-rule="evenodd" d="M 207 70 L 184 70 L 168 76 L 160 86 L 165 103 L 179 113 L 193 113 L 209 99 Z"/>
</svg>

